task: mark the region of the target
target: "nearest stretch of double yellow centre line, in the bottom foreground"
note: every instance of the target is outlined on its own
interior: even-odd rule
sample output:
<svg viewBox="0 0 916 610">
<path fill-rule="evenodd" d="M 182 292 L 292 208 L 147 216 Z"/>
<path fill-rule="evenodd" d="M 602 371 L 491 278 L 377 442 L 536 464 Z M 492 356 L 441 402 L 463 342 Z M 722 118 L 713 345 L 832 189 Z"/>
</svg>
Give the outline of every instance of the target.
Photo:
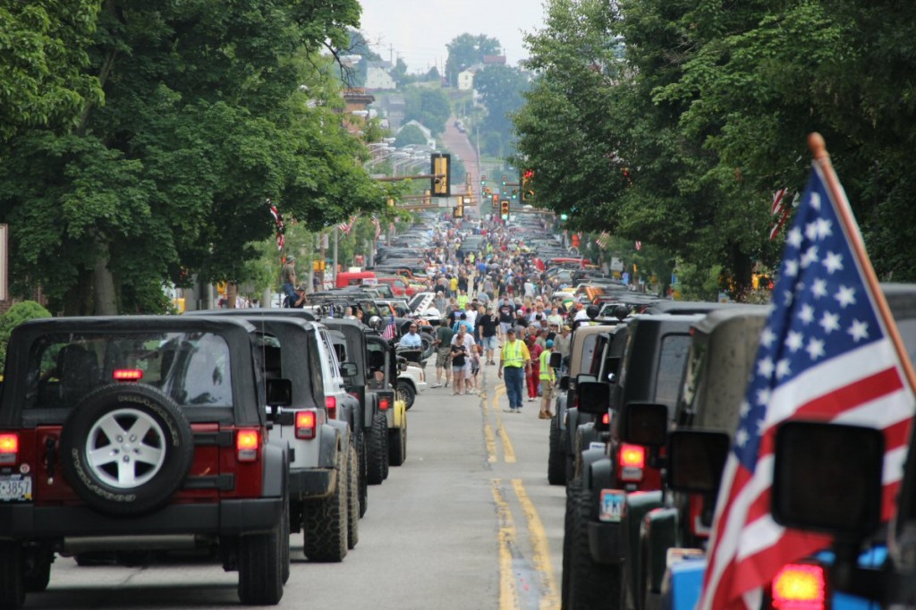
<svg viewBox="0 0 916 610">
<path fill-rule="evenodd" d="M 547 534 L 538 517 L 538 511 L 532 504 L 521 479 L 512 479 L 512 488 L 518 498 L 518 505 L 525 516 L 529 544 L 533 552 L 531 563 L 537 572 L 540 588 L 540 610 L 559 610 L 560 595 L 557 592 L 557 580 L 553 574 L 551 552 L 547 544 Z M 499 610 L 518 608 L 518 586 L 512 558 L 518 556 L 518 539 L 512 509 L 506 499 L 502 481 L 494 479 L 493 499 L 496 501 L 496 517 L 499 522 Z"/>
</svg>

